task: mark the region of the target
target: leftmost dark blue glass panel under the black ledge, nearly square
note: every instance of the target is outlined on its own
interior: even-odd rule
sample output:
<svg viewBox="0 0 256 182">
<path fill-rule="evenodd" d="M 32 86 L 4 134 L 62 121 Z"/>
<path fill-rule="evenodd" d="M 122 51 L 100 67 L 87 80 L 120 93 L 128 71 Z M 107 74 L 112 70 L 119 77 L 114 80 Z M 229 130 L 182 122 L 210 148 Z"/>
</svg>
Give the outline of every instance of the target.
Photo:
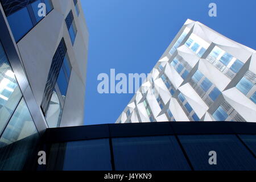
<svg viewBox="0 0 256 182">
<path fill-rule="evenodd" d="M 63 170 L 112 170 L 109 139 L 67 142 Z"/>
</svg>

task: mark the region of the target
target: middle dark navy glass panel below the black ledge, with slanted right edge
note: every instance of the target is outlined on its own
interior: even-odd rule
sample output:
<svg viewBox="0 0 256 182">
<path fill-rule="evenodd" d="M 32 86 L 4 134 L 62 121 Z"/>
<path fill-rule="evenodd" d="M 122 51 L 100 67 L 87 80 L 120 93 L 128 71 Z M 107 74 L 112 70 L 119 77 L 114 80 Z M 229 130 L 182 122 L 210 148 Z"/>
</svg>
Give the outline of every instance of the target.
<svg viewBox="0 0 256 182">
<path fill-rule="evenodd" d="M 113 138 L 115 169 L 191 170 L 174 136 Z"/>
</svg>

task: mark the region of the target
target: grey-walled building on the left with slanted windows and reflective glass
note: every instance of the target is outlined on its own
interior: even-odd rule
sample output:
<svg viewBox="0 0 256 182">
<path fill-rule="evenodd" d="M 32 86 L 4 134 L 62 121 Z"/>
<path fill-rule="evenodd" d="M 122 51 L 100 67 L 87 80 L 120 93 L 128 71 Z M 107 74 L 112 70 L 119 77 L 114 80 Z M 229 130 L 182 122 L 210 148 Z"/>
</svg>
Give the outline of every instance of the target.
<svg viewBox="0 0 256 182">
<path fill-rule="evenodd" d="M 47 128 L 83 125 L 89 35 L 80 1 L 0 2 L 0 169 L 22 169 Z"/>
</svg>

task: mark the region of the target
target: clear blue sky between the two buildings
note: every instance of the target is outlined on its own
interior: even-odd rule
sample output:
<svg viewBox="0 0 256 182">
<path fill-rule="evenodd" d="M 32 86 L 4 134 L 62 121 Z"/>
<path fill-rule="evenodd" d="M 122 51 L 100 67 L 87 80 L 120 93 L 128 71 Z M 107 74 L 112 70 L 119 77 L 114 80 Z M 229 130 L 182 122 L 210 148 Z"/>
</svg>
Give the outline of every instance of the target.
<svg viewBox="0 0 256 182">
<path fill-rule="evenodd" d="M 149 73 L 186 19 L 256 49 L 255 0 L 81 0 L 89 30 L 85 125 L 114 123 L 134 94 L 99 94 L 99 73 Z M 217 4 L 217 17 L 208 5 Z"/>
</svg>

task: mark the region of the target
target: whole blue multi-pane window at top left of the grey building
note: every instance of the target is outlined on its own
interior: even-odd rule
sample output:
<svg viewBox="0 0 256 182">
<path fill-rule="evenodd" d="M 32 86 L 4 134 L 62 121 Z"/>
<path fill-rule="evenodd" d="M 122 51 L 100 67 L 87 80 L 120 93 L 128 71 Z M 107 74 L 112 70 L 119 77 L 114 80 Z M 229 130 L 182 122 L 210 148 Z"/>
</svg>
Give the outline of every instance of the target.
<svg viewBox="0 0 256 182">
<path fill-rule="evenodd" d="M 17 2 L 10 6 L 14 6 L 13 9 L 18 11 L 7 14 L 7 20 L 9 22 L 11 31 L 16 42 L 18 42 L 32 27 L 36 25 L 44 17 L 38 16 L 39 3 L 46 4 L 46 13 L 53 9 L 51 0 L 38 0 L 33 3 Z M 10 8 L 10 7 L 9 7 Z"/>
</svg>

